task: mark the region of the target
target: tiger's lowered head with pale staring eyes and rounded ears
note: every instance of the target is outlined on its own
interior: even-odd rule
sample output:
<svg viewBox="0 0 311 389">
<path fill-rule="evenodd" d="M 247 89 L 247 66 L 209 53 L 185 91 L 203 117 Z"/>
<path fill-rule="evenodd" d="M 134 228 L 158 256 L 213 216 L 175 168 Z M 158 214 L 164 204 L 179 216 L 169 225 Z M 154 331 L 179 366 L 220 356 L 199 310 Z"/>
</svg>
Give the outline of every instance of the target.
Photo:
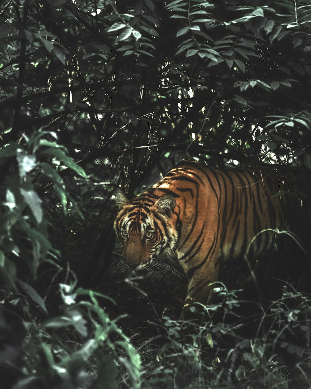
<svg viewBox="0 0 311 389">
<path fill-rule="evenodd" d="M 173 224 L 174 196 L 144 193 L 132 202 L 120 188 L 115 190 L 119 212 L 114 229 L 122 245 L 122 262 L 135 272 L 148 268 L 153 257 L 173 249 L 177 240 Z"/>
</svg>

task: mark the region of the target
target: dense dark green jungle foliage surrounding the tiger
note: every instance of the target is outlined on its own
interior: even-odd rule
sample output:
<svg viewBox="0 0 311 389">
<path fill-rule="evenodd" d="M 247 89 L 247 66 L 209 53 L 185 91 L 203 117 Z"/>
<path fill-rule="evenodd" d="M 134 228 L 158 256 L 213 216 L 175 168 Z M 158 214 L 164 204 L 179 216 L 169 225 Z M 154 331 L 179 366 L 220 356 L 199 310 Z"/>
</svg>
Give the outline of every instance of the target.
<svg viewBox="0 0 311 389">
<path fill-rule="evenodd" d="M 310 299 L 289 285 L 251 318 L 222 291 L 190 345 L 166 314 L 144 310 L 145 333 L 122 316 L 137 280 L 105 287 L 116 184 L 185 157 L 310 168 L 310 36 L 308 0 L 1 3 L 5 388 L 310 387 Z"/>
</svg>

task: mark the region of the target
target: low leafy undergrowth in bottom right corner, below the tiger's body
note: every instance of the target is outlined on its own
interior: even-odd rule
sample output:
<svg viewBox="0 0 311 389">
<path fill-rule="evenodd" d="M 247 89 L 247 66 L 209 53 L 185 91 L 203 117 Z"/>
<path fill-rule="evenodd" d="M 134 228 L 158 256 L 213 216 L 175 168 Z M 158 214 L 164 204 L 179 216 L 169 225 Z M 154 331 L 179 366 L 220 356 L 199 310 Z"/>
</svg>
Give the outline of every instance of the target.
<svg viewBox="0 0 311 389">
<path fill-rule="evenodd" d="M 162 371 L 152 384 L 165 376 L 160 387 L 309 387 L 310 299 L 285 289 L 265 308 L 238 300 L 234 291 L 217 294 L 219 302 L 203 307 L 205 324 L 190 328 L 186 344 L 178 341 L 180 325 L 162 318 L 172 341 L 158 354 Z"/>
</svg>

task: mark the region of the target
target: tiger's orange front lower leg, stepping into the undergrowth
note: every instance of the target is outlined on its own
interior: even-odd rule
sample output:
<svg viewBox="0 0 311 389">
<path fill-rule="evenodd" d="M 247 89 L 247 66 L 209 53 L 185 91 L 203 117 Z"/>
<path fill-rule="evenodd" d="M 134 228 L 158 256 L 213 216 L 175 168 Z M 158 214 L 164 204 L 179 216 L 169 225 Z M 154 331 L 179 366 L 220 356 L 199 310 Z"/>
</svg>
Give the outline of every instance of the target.
<svg viewBox="0 0 311 389">
<path fill-rule="evenodd" d="M 210 261 L 209 266 L 197 269 L 189 279 L 187 296 L 180 314 L 180 320 L 202 319 L 201 314 L 190 311 L 196 303 L 206 305 L 213 298 L 213 282 L 217 281 L 218 264 L 217 261 Z"/>
</svg>

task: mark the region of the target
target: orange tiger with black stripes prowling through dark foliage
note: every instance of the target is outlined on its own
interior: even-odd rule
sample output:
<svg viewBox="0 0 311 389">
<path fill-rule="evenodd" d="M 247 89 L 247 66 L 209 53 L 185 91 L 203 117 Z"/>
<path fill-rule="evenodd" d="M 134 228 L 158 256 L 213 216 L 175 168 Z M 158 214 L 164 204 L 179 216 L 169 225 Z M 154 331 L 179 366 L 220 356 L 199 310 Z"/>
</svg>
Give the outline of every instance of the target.
<svg viewBox="0 0 311 389">
<path fill-rule="evenodd" d="M 177 259 L 188 279 L 180 320 L 191 320 L 194 303 L 210 303 L 219 264 L 270 250 L 276 231 L 302 207 L 301 198 L 288 196 L 290 180 L 280 170 L 214 169 L 185 159 L 131 201 L 117 187 L 122 262 L 142 272 L 163 252 Z"/>
</svg>

